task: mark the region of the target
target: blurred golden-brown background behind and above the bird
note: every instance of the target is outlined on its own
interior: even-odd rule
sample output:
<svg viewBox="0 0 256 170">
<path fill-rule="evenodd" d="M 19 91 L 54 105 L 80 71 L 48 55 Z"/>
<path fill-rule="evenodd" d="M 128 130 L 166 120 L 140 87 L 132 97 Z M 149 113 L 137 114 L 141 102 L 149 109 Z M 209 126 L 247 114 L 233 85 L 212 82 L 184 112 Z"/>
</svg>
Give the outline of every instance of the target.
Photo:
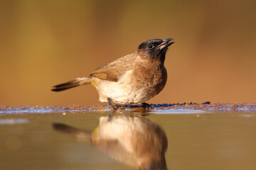
<svg viewBox="0 0 256 170">
<path fill-rule="evenodd" d="M 93 86 L 50 89 L 153 38 L 176 43 L 148 103 L 256 102 L 255 18 L 255 0 L 0 0 L 0 105 L 101 104 Z"/>
</svg>

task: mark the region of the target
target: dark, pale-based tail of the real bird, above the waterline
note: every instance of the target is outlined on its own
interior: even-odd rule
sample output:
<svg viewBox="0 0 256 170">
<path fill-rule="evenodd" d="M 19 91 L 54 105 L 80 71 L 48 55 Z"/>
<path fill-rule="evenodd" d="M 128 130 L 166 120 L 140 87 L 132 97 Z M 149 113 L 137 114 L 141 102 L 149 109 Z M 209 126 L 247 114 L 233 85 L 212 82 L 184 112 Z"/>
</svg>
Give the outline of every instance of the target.
<svg viewBox="0 0 256 170">
<path fill-rule="evenodd" d="M 92 83 L 92 78 L 91 77 L 82 77 L 82 78 L 77 78 L 68 82 L 65 82 L 63 84 L 58 84 L 56 86 L 53 86 L 52 91 L 63 91 L 66 89 L 70 89 L 76 86 L 81 86 L 84 84 L 91 84 Z"/>
</svg>

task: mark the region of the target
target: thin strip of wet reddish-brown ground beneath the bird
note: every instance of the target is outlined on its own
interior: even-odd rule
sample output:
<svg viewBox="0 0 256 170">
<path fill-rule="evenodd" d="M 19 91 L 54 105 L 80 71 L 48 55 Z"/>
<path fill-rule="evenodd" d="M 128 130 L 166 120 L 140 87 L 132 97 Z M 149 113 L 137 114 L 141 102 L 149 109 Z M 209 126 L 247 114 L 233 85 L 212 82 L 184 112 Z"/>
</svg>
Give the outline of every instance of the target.
<svg viewBox="0 0 256 170">
<path fill-rule="evenodd" d="M 142 105 L 116 105 L 117 111 L 165 111 L 165 110 L 201 110 L 201 111 L 253 111 L 256 112 L 256 103 L 164 103 L 150 104 L 150 108 Z M 18 113 L 65 113 L 109 111 L 109 106 L 0 106 L 1 114 Z"/>
</svg>

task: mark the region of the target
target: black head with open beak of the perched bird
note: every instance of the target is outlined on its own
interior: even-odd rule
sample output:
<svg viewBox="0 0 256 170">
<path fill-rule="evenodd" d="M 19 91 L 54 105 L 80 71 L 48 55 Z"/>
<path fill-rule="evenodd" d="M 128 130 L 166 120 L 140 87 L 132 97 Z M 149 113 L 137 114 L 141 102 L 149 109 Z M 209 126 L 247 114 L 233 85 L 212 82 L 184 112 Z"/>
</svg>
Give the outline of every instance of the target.
<svg viewBox="0 0 256 170">
<path fill-rule="evenodd" d="M 161 39 L 152 39 L 142 42 L 139 45 L 137 52 L 142 57 L 149 57 L 151 60 L 161 60 L 164 62 L 166 51 L 168 47 L 172 45 L 174 42 L 172 38 L 167 38 L 165 40 Z"/>
</svg>

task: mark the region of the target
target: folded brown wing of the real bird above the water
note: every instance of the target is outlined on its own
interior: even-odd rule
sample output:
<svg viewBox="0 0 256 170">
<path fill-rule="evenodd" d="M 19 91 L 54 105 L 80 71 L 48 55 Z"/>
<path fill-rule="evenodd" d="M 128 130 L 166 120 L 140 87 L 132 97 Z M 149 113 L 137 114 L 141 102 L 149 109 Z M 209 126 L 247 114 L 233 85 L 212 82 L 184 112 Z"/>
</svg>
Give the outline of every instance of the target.
<svg viewBox="0 0 256 170">
<path fill-rule="evenodd" d="M 134 54 L 126 55 L 96 69 L 90 76 L 107 81 L 117 81 L 122 74 L 134 67 L 134 59 Z"/>
</svg>

